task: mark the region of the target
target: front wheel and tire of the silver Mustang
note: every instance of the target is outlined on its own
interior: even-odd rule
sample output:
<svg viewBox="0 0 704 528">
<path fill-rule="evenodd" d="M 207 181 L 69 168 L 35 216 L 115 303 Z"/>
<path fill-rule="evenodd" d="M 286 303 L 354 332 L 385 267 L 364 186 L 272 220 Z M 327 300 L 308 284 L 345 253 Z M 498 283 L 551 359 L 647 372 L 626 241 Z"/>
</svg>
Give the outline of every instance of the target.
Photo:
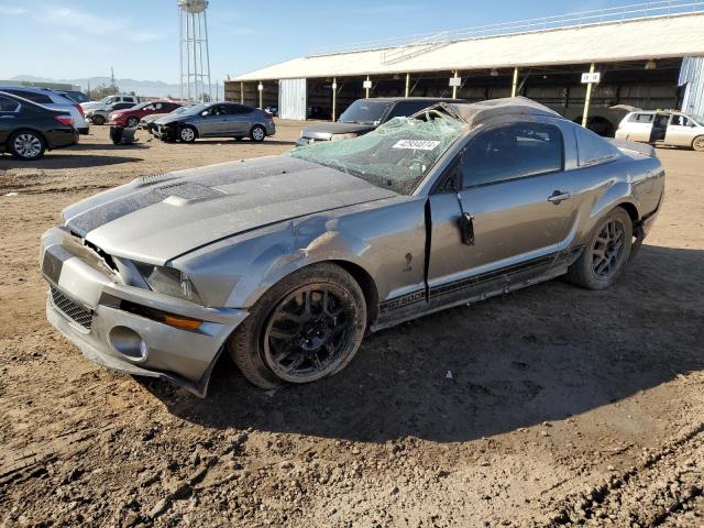
<svg viewBox="0 0 704 528">
<path fill-rule="evenodd" d="M 228 340 L 228 351 L 257 387 L 310 383 L 344 369 L 365 329 L 360 285 L 341 267 L 320 263 L 266 292 Z"/>
</svg>

